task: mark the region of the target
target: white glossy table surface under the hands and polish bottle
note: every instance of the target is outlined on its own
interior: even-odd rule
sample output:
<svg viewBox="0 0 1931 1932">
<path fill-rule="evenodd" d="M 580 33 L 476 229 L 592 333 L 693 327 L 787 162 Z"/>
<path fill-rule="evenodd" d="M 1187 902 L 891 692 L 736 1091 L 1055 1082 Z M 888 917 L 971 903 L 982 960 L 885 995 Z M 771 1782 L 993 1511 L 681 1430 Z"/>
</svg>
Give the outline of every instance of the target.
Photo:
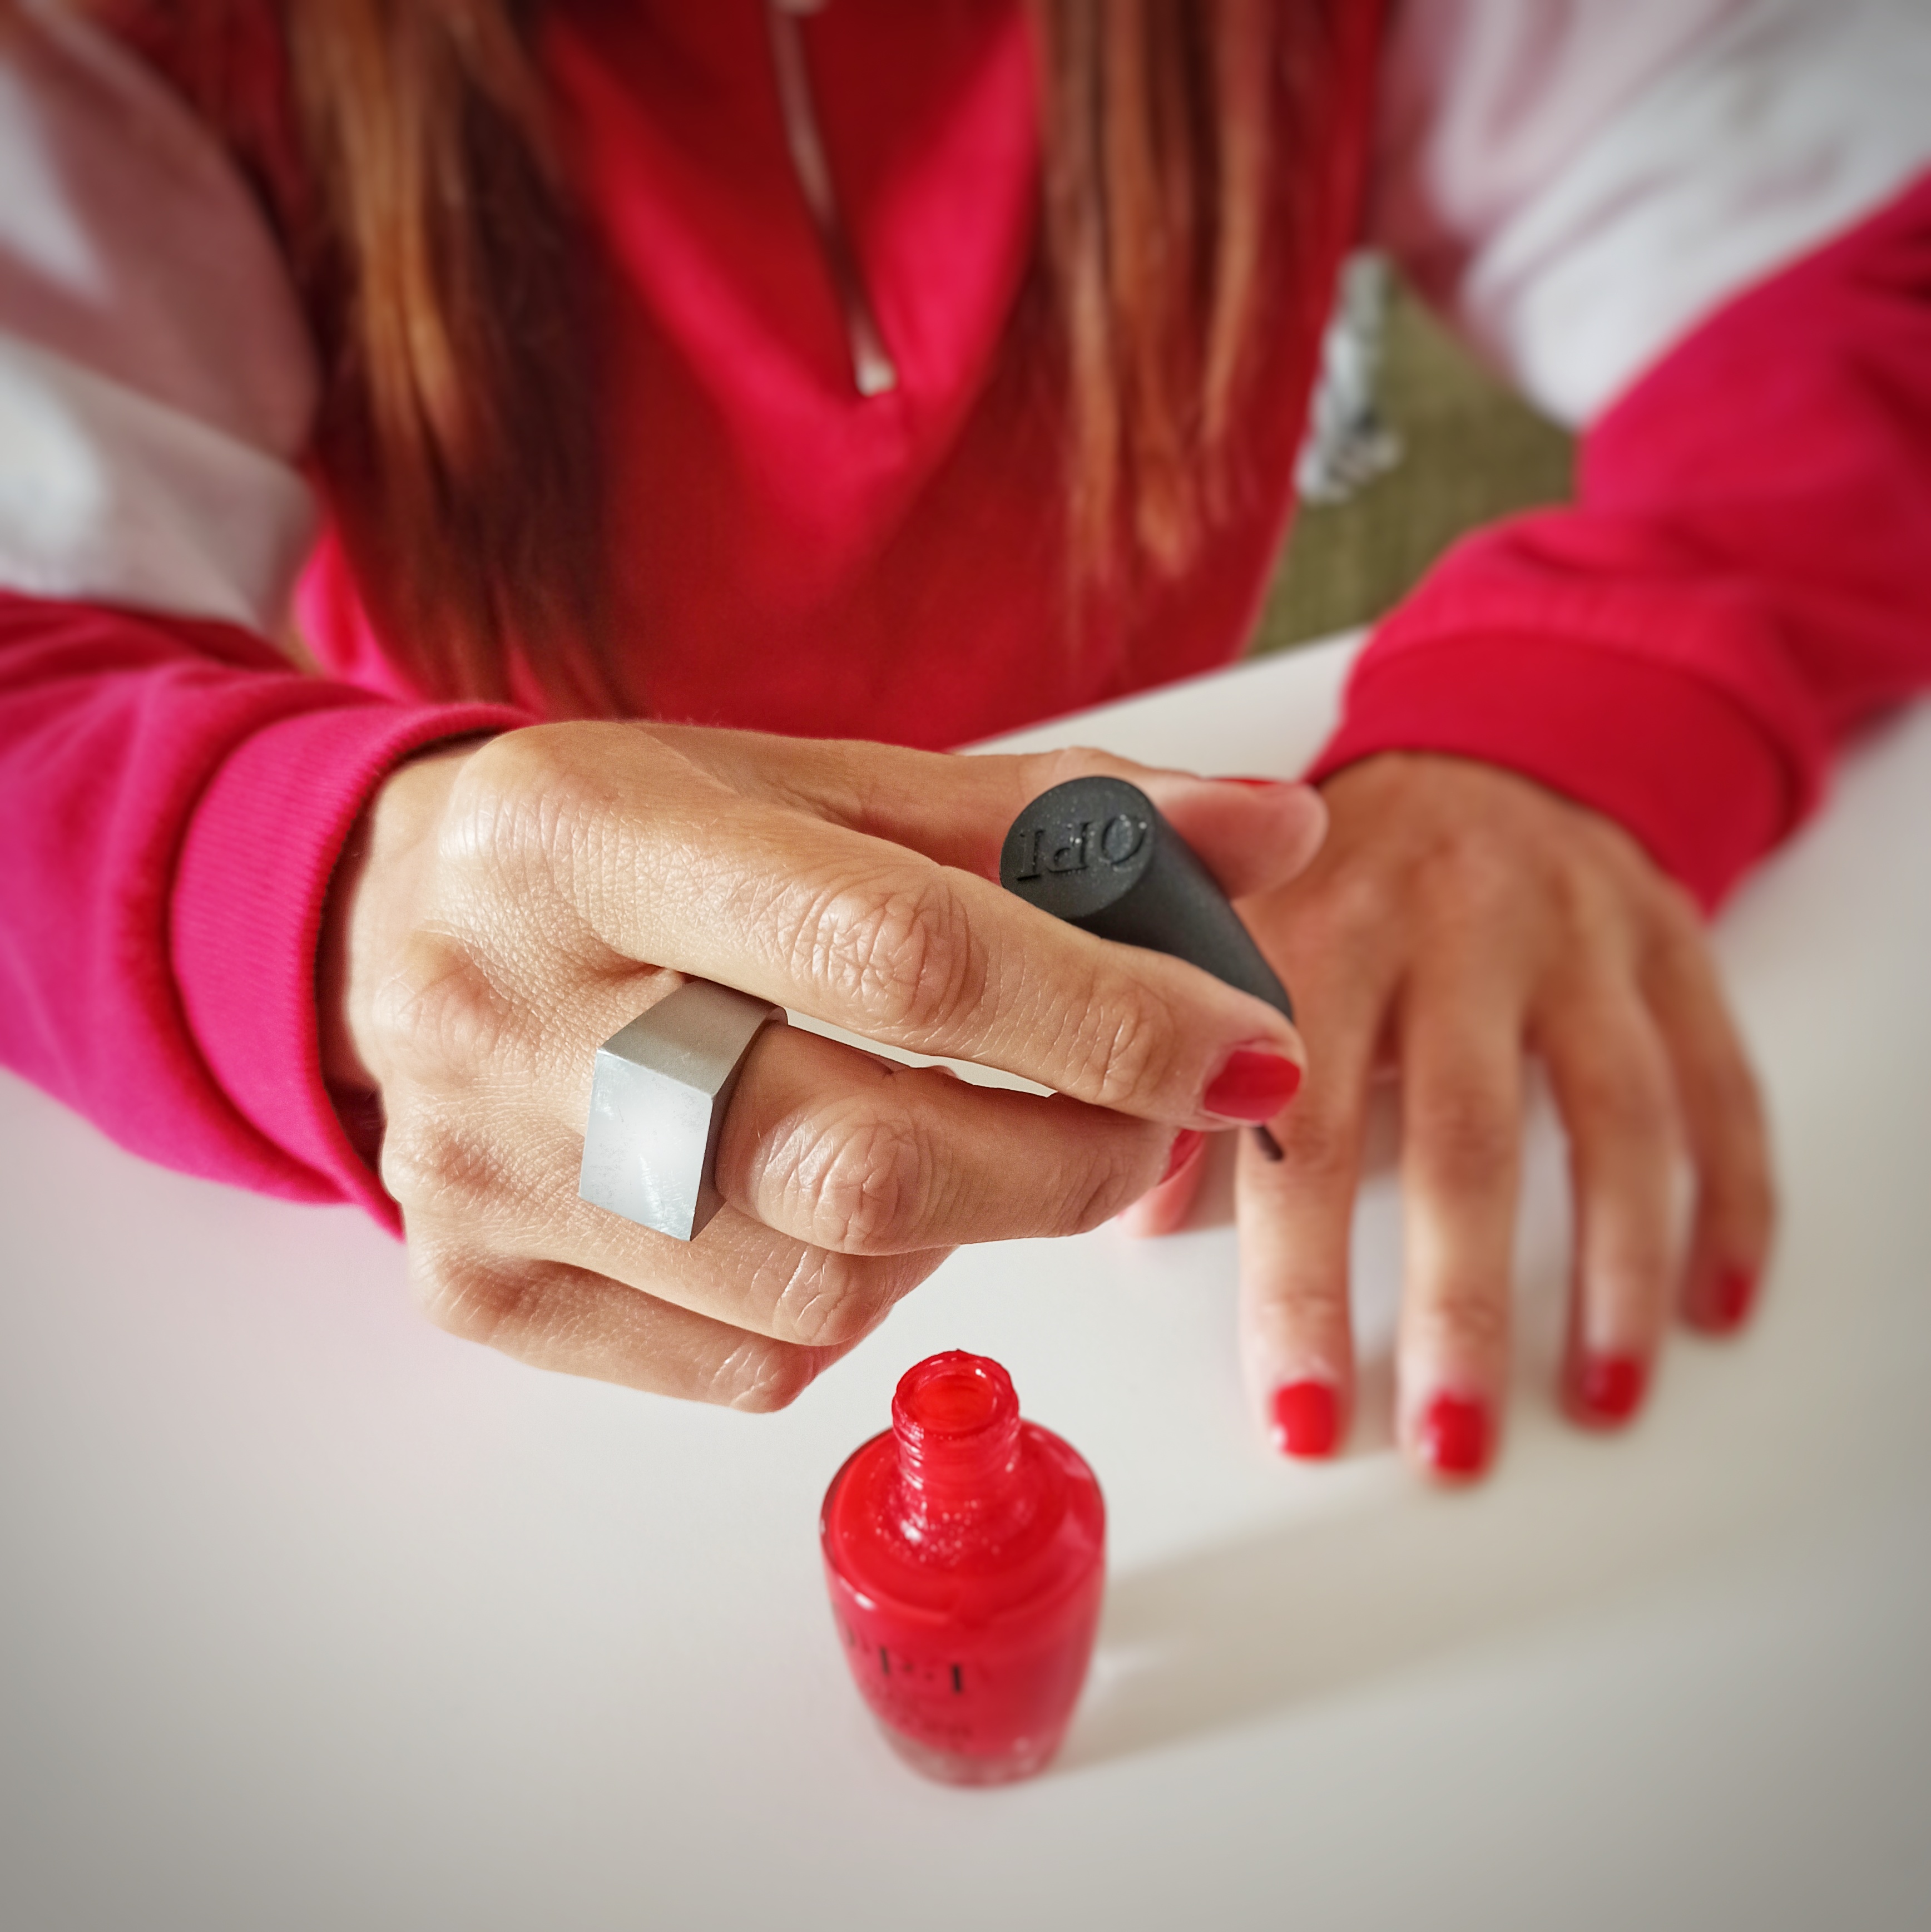
<svg viewBox="0 0 1931 1932">
<path fill-rule="evenodd" d="M 1288 771 L 1342 663 L 1031 738 Z M 1719 943 L 1786 1184 L 1761 1321 L 1568 1430 L 1543 1115 L 1506 1461 L 1446 1497 L 1386 1447 L 1385 1167 L 1367 1416 L 1298 1468 L 1238 1399 L 1224 1177 L 1164 1244 L 958 1256 L 757 1418 L 438 1335 L 355 1213 L 0 1080 L 0 1926 L 1931 1924 L 1931 709 Z M 886 1752 L 817 1571 L 940 1347 L 1112 1509 L 1064 1758 L 993 1793 Z"/>
</svg>

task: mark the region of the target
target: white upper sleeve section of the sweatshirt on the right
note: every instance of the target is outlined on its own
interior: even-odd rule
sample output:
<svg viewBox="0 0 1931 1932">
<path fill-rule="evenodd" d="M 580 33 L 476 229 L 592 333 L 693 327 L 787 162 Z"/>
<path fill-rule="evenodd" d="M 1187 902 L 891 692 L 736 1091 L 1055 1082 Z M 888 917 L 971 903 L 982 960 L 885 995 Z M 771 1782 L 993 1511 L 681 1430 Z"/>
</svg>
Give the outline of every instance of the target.
<svg viewBox="0 0 1931 1932">
<path fill-rule="evenodd" d="M 1585 425 L 1931 166 L 1931 0 L 1408 0 L 1377 236 Z"/>
</svg>

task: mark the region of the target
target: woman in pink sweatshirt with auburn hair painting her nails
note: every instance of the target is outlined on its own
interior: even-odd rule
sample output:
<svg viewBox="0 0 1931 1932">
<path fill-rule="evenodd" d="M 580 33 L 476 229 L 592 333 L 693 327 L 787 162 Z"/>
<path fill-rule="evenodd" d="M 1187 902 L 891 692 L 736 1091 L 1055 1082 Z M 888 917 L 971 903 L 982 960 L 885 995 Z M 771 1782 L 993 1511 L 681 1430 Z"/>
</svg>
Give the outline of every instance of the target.
<svg viewBox="0 0 1931 1932">
<path fill-rule="evenodd" d="M 15 0 L 10 1063 L 363 1202 L 458 1333 L 742 1406 L 952 1244 L 1174 1225 L 1199 1136 L 1265 1124 L 1242 1341 L 1294 1455 L 1346 1430 L 1390 1063 L 1400 1434 L 1466 1478 L 1535 1053 L 1566 1395 L 1624 1422 L 1769 1242 L 1697 904 L 1931 668 L 1921 12 L 807 12 Z M 1319 796 L 919 750 L 1238 653 L 1363 224 L 1589 429 L 1580 504 L 1383 626 Z M 1303 1034 L 996 891 L 1085 769 L 1242 896 Z M 1056 1097 L 767 1032 L 678 1246 L 575 1196 L 597 1043 L 678 974 Z"/>
</svg>

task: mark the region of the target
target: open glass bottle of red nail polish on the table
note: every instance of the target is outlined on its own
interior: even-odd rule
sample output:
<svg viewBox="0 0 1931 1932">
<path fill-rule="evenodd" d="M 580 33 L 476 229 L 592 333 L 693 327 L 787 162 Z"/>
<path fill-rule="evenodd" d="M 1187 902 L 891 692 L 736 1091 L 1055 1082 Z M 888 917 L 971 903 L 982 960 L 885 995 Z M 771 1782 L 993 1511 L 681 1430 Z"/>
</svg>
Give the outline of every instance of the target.
<svg viewBox="0 0 1931 1932">
<path fill-rule="evenodd" d="M 825 1577 L 846 1663 L 913 1770 L 1029 1777 L 1093 1654 L 1106 1505 L 1085 1461 L 1020 1420 L 983 1354 L 919 1362 L 825 1492 Z"/>
</svg>

